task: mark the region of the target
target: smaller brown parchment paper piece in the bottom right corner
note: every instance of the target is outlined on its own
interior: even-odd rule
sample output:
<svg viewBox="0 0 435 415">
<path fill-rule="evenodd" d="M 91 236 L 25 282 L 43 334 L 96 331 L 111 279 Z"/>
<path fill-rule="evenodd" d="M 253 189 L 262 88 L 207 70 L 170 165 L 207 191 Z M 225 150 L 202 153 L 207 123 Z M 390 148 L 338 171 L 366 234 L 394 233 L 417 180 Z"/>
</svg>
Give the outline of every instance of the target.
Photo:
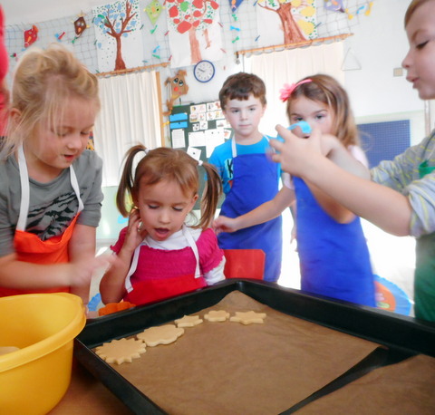
<svg viewBox="0 0 435 415">
<path fill-rule="evenodd" d="M 420 354 L 376 369 L 314 401 L 298 414 L 435 413 L 435 359 Z"/>
</svg>

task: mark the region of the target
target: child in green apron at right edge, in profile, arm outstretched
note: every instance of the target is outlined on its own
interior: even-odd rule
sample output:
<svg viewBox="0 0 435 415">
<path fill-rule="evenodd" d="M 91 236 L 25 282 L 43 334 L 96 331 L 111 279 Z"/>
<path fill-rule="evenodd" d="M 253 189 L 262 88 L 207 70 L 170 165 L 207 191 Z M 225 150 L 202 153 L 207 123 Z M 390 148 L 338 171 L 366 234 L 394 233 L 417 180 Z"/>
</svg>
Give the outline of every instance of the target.
<svg viewBox="0 0 435 415">
<path fill-rule="evenodd" d="M 410 50 L 402 62 L 422 100 L 435 99 L 435 0 L 412 0 L 405 14 Z M 300 140 L 277 126 L 271 140 L 282 169 L 309 181 L 386 232 L 417 239 L 415 315 L 435 322 L 435 130 L 417 146 L 372 169 L 372 181 L 339 166 L 352 163 L 338 140 L 314 130 Z M 324 157 L 326 156 L 326 157 Z M 333 156 L 334 163 L 331 161 Z M 337 166 L 338 164 L 338 166 Z"/>
</svg>

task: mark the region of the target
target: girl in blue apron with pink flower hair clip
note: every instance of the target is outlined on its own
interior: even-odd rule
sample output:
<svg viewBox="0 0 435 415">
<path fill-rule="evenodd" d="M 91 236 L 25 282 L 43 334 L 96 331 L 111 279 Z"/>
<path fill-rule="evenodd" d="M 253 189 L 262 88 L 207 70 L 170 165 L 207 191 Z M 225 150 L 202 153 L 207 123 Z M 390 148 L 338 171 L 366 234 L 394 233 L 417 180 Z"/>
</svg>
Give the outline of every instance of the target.
<svg viewBox="0 0 435 415">
<path fill-rule="evenodd" d="M 349 98 L 337 81 L 324 74 L 310 76 L 285 85 L 280 98 L 287 103 L 290 129 L 297 137 L 306 139 L 315 129 L 323 134 L 324 145 L 329 140 L 340 140 L 353 158 L 360 161 L 349 164 L 353 174 L 369 176 L 367 159 L 358 146 Z M 328 157 L 334 161 L 341 154 L 332 152 Z M 250 227 L 280 215 L 294 201 L 301 288 L 313 294 L 375 306 L 372 265 L 360 218 L 309 181 L 287 176 L 273 200 L 234 219 L 218 217 L 215 227 L 226 232 Z"/>
</svg>

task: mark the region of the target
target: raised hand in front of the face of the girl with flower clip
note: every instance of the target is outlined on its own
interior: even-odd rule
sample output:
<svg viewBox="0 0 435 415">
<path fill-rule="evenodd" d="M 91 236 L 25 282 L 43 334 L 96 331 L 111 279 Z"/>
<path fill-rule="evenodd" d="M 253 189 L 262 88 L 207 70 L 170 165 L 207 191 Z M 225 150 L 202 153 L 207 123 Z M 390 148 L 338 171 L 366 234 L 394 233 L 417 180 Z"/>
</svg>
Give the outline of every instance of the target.
<svg viewBox="0 0 435 415">
<path fill-rule="evenodd" d="M 321 132 L 313 130 L 308 139 L 300 139 L 282 125 L 275 127 L 284 142 L 270 140 L 270 145 L 278 153 L 272 154 L 271 158 L 281 163 L 281 168 L 295 176 L 302 176 L 310 163 L 315 162 L 315 156 L 322 156 Z"/>
</svg>

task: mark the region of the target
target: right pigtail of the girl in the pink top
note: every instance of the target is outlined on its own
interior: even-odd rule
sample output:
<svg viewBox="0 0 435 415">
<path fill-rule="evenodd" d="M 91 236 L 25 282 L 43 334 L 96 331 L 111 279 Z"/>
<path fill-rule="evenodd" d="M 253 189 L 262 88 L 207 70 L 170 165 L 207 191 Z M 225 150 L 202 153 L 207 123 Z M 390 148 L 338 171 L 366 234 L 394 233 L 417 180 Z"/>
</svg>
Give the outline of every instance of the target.
<svg viewBox="0 0 435 415">
<path fill-rule="evenodd" d="M 215 166 L 207 162 L 198 164 L 202 164 L 207 173 L 207 181 L 201 197 L 201 219 L 199 221 L 199 227 L 205 229 L 210 227 L 215 218 L 218 201 L 222 195 L 222 180 Z"/>
</svg>

